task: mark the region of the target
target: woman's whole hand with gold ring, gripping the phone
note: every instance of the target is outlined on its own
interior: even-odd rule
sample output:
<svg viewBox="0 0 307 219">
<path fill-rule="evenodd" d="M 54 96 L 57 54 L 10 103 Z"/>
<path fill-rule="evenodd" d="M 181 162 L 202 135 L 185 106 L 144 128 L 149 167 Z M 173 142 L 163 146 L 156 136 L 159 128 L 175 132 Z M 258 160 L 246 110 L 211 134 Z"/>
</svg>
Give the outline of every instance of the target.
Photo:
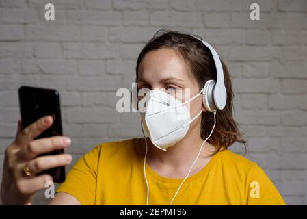
<svg viewBox="0 0 307 219">
<path fill-rule="evenodd" d="M 47 181 L 53 181 L 51 175 L 36 174 L 70 164 L 72 161 L 72 156 L 66 154 L 38 157 L 40 154 L 64 149 L 70 145 L 70 138 L 64 136 L 34 140 L 52 123 L 52 116 L 44 116 L 21 131 L 21 121 L 18 121 L 16 138 L 5 149 L 0 196 L 3 205 L 31 203 L 35 192 L 44 189 Z M 27 170 L 29 175 L 26 174 Z"/>
</svg>

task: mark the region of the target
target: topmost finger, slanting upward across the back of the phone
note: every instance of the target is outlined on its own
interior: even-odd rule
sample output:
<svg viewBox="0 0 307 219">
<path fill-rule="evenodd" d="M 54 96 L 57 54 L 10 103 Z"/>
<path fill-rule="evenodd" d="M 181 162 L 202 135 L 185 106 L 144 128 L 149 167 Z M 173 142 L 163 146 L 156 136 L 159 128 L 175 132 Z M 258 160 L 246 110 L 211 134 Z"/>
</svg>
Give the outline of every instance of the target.
<svg viewBox="0 0 307 219">
<path fill-rule="evenodd" d="M 25 146 L 40 135 L 44 130 L 48 129 L 53 123 L 52 116 L 44 116 L 31 125 L 25 127 L 16 138 L 16 144 L 20 146 Z"/>
</svg>

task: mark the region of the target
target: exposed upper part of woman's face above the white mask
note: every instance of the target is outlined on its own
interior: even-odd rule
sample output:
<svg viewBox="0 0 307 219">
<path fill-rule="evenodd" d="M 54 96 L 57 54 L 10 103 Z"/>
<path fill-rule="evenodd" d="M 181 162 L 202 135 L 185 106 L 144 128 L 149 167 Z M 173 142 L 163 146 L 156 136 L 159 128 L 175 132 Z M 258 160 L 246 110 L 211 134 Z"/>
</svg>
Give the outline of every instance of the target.
<svg viewBox="0 0 307 219">
<path fill-rule="evenodd" d="M 163 89 L 181 102 L 191 99 L 200 92 L 198 81 L 187 68 L 181 53 L 176 49 L 166 48 L 150 51 L 144 55 L 139 64 L 137 86 L 139 90 Z M 189 92 L 185 93 L 185 88 L 189 89 Z M 190 110 L 191 118 L 200 110 L 205 111 L 202 95 L 186 106 Z M 201 118 L 199 116 L 196 121 L 200 122 Z"/>
</svg>

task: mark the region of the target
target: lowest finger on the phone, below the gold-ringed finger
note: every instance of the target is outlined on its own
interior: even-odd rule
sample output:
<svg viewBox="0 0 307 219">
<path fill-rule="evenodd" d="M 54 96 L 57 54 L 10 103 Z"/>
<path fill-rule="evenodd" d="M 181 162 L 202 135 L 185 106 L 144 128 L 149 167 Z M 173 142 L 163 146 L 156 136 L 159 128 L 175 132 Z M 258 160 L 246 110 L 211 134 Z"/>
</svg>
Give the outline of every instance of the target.
<svg viewBox="0 0 307 219">
<path fill-rule="evenodd" d="M 51 175 L 44 174 L 38 177 L 21 179 L 17 183 L 17 188 L 22 194 L 30 195 L 44 189 L 46 183 L 49 182 L 53 182 L 53 178 Z"/>
</svg>

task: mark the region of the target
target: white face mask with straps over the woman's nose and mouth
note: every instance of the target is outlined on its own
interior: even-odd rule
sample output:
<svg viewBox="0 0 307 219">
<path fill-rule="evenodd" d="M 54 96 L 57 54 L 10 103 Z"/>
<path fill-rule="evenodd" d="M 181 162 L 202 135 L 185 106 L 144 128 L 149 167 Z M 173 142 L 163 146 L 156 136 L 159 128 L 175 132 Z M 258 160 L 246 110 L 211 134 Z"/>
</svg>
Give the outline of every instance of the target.
<svg viewBox="0 0 307 219">
<path fill-rule="evenodd" d="M 142 113 L 142 125 L 152 144 L 166 151 L 167 148 L 185 137 L 189 131 L 189 125 L 202 114 L 200 110 L 191 119 L 190 112 L 185 105 L 196 99 L 201 93 L 202 91 L 184 103 L 161 90 L 150 90 L 146 94 L 146 111 L 145 114 Z M 139 108 L 141 107 L 139 105 Z"/>
</svg>

